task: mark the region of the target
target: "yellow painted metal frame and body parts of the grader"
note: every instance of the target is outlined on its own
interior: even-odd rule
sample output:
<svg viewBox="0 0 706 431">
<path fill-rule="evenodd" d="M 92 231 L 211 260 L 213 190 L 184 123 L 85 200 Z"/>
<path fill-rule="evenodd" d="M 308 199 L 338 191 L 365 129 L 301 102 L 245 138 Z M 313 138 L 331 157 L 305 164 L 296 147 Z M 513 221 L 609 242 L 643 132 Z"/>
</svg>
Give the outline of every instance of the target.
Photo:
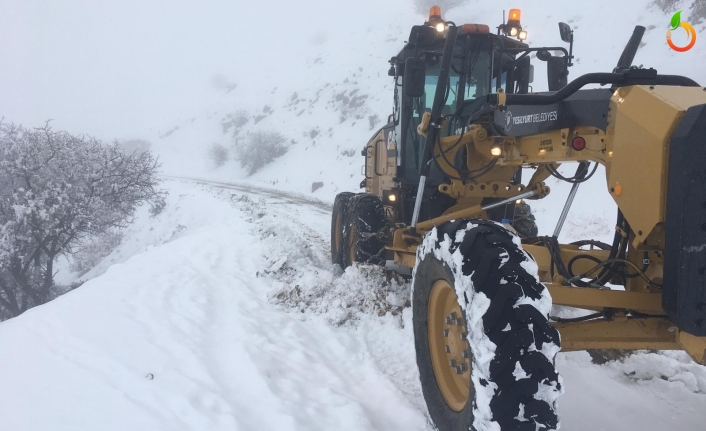
<svg viewBox="0 0 706 431">
<path fill-rule="evenodd" d="M 704 103 L 706 88 L 621 87 L 610 100 L 606 131 L 581 126 L 522 137 L 489 136 L 481 123 L 471 125 L 463 135 L 440 138 L 440 145 L 434 147 L 434 157 L 447 174 L 454 173 L 455 168 L 446 160 L 454 160 L 461 148 L 467 150 L 469 169 L 487 166 L 498 153 L 500 156 L 496 166 L 483 176 L 482 183 L 451 180 L 439 186 L 439 191 L 455 198 L 457 204 L 440 217 L 418 223 L 416 231 L 423 234 L 449 220 L 485 218 L 481 208 L 484 198 L 511 198 L 528 191 L 534 192 L 535 199 L 544 198 L 550 192 L 544 184 L 550 175 L 548 165 L 597 162 L 605 167 L 608 191 L 630 224 L 630 232 L 621 232 L 629 241 L 628 260 L 639 261 L 647 253 L 651 264 L 646 276 L 661 283 L 669 140 L 686 110 Z M 418 132 L 426 136 L 428 127 L 429 115 L 426 115 Z M 571 145 L 577 137 L 585 140 L 585 148 L 580 151 Z M 368 147 L 369 155 L 375 152 L 375 157 L 367 157 L 366 169 L 376 175 L 366 179 L 366 191 L 378 196 L 392 187 L 396 174 L 396 162 L 387 156 L 387 147 L 385 144 Z M 441 151 L 445 157 L 441 157 Z M 527 186 L 510 183 L 519 166 L 536 167 Z M 396 218 L 394 212 L 389 214 Z M 390 257 L 399 265 L 414 267 L 419 238 L 406 234 L 402 228 L 395 229 L 387 246 Z M 545 247 L 527 244 L 524 248 L 536 260 L 540 279 L 555 305 L 603 311 L 609 316 L 602 320 L 555 323 L 561 333 L 562 350 L 683 349 L 696 362 L 706 365 L 706 337 L 682 332 L 664 317 L 660 290 L 644 279 L 628 279 L 624 291 L 569 287 L 559 275 L 550 278 L 551 258 Z M 578 253 L 601 260 L 608 257 L 607 251 L 579 250 L 573 245 L 561 245 L 560 250 L 566 260 Z M 592 263 L 577 260 L 576 268 L 586 272 Z M 628 316 L 628 311 L 644 317 Z"/>
</svg>

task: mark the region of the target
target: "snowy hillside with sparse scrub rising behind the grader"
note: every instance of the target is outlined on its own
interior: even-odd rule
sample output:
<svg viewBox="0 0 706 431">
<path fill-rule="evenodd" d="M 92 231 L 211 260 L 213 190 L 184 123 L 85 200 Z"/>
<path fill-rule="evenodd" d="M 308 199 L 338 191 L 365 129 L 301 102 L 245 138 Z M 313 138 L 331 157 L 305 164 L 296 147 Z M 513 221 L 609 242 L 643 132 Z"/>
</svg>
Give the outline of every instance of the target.
<svg viewBox="0 0 706 431">
<path fill-rule="evenodd" d="M 249 133 L 277 131 L 291 141 L 291 150 L 250 179 L 302 193 L 311 192 L 312 183 L 320 181 L 324 186 L 315 196 L 329 201 L 342 190 L 355 191 L 361 180 L 360 150 L 392 113 L 387 61 L 400 50 L 410 27 L 424 21 L 425 15 L 416 7 L 422 3 L 363 0 L 348 6 L 327 3 L 317 7 L 327 18 L 316 21 L 316 33 L 310 40 L 288 45 L 287 50 L 298 53 L 295 58 L 282 62 L 277 51 L 275 58 L 258 58 L 257 64 L 237 67 L 236 87 L 224 92 L 211 109 L 169 124 L 160 130 L 159 138 L 152 138 L 162 149 L 165 169 L 182 175 L 188 171 L 211 178 L 243 178 L 245 174 L 235 161 L 214 170 L 204 156 L 209 145 L 230 146 L 236 139 L 247 140 Z M 503 10 L 521 8 L 531 46 L 566 45 L 559 38 L 557 23 L 569 23 L 575 31 L 576 56 L 570 79 L 611 71 L 639 24 L 648 30 L 635 64 L 706 82 L 706 43 L 686 53 L 671 51 L 665 41 L 671 14 L 646 1 L 599 0 L 590 8 L 578 1 L 446 3 L 458 5 L 444 8 L 447 19 L 487 23 L 491 28 L 502 22 Z M 688 3 L 683 2 L 685 11 Z M 341 7 L 346 9 L 338 9 Z M 706 19 L 695 25 L 698 30 L 706 29 Z M 248 50 L 242 55 L 252 57 L 253 53 Z M 545 63 L 534 64 L 533 89 L 545 90 Z M 234 125 L 245 120 L 240 127 Z M 594 201 L 594 197 L 584 194 L 578 200 Z"/>
</svg>

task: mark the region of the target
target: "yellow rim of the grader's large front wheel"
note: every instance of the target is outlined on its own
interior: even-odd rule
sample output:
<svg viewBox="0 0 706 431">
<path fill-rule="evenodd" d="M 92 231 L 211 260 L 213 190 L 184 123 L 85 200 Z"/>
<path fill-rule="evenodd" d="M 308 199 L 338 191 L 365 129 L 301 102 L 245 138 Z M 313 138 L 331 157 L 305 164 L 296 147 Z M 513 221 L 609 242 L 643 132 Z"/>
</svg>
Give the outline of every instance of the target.
<svg viewBox="0 0 706 431">
<path fill-rule="evenodd" d="M 456 292 L 446 280 L 431 289 L 427 319 L 434 377 L 446 403 L 460 412 L 471 393 L 471 351 Z"/>
</svg>

